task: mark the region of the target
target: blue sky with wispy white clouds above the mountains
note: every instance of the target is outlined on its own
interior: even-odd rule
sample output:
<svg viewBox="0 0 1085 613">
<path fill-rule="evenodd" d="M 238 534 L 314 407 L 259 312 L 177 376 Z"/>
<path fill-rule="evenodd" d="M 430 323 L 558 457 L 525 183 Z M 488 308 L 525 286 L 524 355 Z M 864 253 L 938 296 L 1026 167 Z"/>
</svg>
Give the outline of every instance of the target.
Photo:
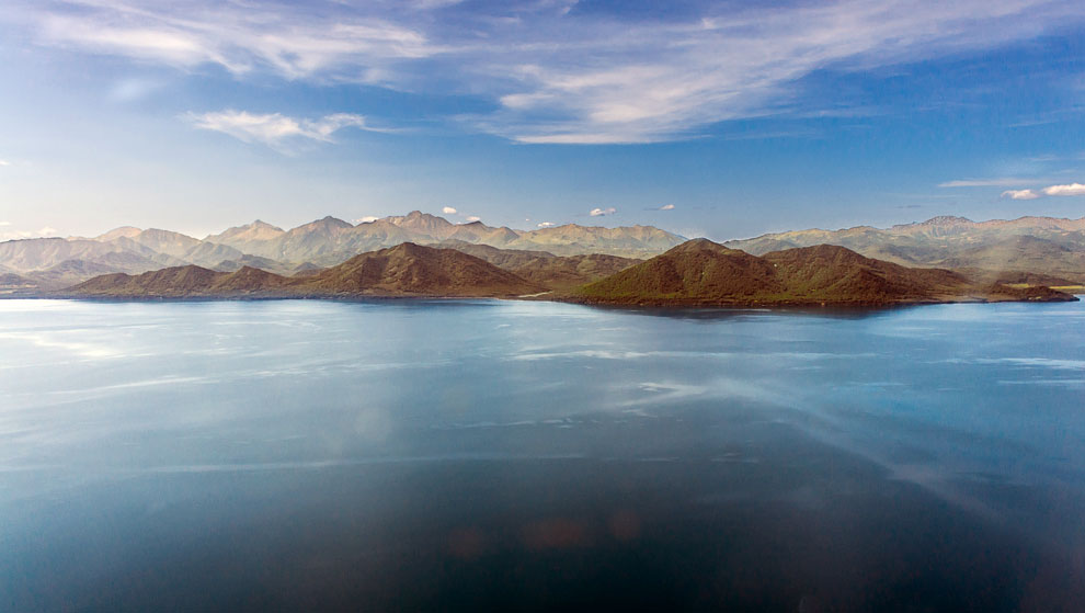
<svg viewBox="0 0 1085 613">
<path fill-rule="evenodd" d="M 0 4 L 0 240 L 1085 216 L 1080 0 Z"/>
</svg>

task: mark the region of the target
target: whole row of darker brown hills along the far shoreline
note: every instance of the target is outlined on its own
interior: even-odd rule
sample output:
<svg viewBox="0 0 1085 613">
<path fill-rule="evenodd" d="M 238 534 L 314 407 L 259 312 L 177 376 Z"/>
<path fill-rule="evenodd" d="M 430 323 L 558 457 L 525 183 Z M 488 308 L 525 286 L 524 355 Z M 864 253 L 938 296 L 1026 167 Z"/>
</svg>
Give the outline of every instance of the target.
<svg viewBox="0 0 1085 613">
<path fill-rule="evenodd" d="M 539 283 L 456 249 L 404 242 L 294 276 L 251 266 L 220 272 L 189 264 L 139 275 L 101 275 L 65 294 L 105 298 L 545 296 L 590 304 L 653 306 L 1075 299 L 1048 287 L 984 284 L 952 271 L 910 269 L 830 245 L 757 257 L 707 239 L 694 239 L 648 261 L 625 265 L 598 281 L 575 287 L 564 285 L 567 280 L 553 272 L 560 270 L 582 279 L 585 274 L 580 272 L 582 265 L 593 272 L 618 265 L 607 258 L 613 257 L 532 260 L 534 263 L 526 270 L 548 271 L 548 279 L 562 282 L 561 288 L 556 288 L 552 283 Z"/>
</svg>

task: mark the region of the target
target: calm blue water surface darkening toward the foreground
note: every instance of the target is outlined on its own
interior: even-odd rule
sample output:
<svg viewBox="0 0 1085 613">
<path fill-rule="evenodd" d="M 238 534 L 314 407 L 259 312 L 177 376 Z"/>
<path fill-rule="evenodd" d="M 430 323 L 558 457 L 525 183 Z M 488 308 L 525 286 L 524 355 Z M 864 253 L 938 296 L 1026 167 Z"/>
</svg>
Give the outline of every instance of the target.
<svg viewBox="0 0 1085 613">
<path fill-rule="evenodd" d="M 1085 305 L 0 300 L 0 610 L 1080 611 Z"/>
</svg>

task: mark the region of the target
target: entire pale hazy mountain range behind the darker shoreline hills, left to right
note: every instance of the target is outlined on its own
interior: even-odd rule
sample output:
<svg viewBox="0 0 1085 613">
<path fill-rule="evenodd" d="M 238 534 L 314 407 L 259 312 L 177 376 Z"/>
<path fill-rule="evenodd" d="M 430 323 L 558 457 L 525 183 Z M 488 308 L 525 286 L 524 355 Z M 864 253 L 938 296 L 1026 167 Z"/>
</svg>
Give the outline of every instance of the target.
<svg viewBox="0 0 1085 613">
<path fill-rule="evenodd" d="M 122 227 L 94 238 L 0 242 L 0 293 L 54 291 L 100 275 L 184 266 L 308 276 L 361 253 L 407 242 L 454 249 L 534 287 L 567 292 L 615 275 L 683 241 L 677 235 L 646 226 L 514 230 L 480 222 L 453 224 L 416 211 L 357 225 L 326 217 L 290 230 L 256 220 L 204 239 Z M 909 268 L 951 269 L 976 283 L 1085 283 L 1085 218 L 976 223 L 936 217 L 887 229 L 797 230 L 726 243 L 751 257 L 816 245 L 842 246 Z"/>
</svg>

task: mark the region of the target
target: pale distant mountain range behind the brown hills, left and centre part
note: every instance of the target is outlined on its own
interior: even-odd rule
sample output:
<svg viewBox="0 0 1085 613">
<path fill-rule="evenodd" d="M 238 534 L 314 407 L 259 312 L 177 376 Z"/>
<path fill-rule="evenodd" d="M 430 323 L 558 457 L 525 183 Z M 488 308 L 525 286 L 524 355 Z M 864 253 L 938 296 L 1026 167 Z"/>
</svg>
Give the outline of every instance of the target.
<svg viewBox="0 0 1085 613">
<path fill-rule="evenodd" d="M 138 274 L 162 268 L 196 265 L 233 272 L 243 266 L 293 275 L 340 264 L 347 259 L 404 242 L 529 252 L 530 258 L 613 256 L 598 265 L 659 254 L 684 239 L 647 226 L 603 228 L 566 225 L 537 230 L 494 228 L 480 222 L 453 224 L 412 212 L 403 216 L 351 224 L 324 217 L 290 230 L 261 220 L 196 239 L 161 229 L 122 227 L 93 238 L 38 238 L 0 242 L 0 290 L 58 290 L 108 273 Z M 477 250 L 476 250 L 477 252 Z M 506 258 L 506 256 L 502 256 Z M 484 259 L 484 258 L 483 258 Z M 568 263 L 568 262 L 567 262 Z M 593 264 L 585 264 L 591 269 Z M 584 266 L 581 266 L 584 268 Z M 582 281 L 587 277 L 578 277 Z"/>
</svg>

